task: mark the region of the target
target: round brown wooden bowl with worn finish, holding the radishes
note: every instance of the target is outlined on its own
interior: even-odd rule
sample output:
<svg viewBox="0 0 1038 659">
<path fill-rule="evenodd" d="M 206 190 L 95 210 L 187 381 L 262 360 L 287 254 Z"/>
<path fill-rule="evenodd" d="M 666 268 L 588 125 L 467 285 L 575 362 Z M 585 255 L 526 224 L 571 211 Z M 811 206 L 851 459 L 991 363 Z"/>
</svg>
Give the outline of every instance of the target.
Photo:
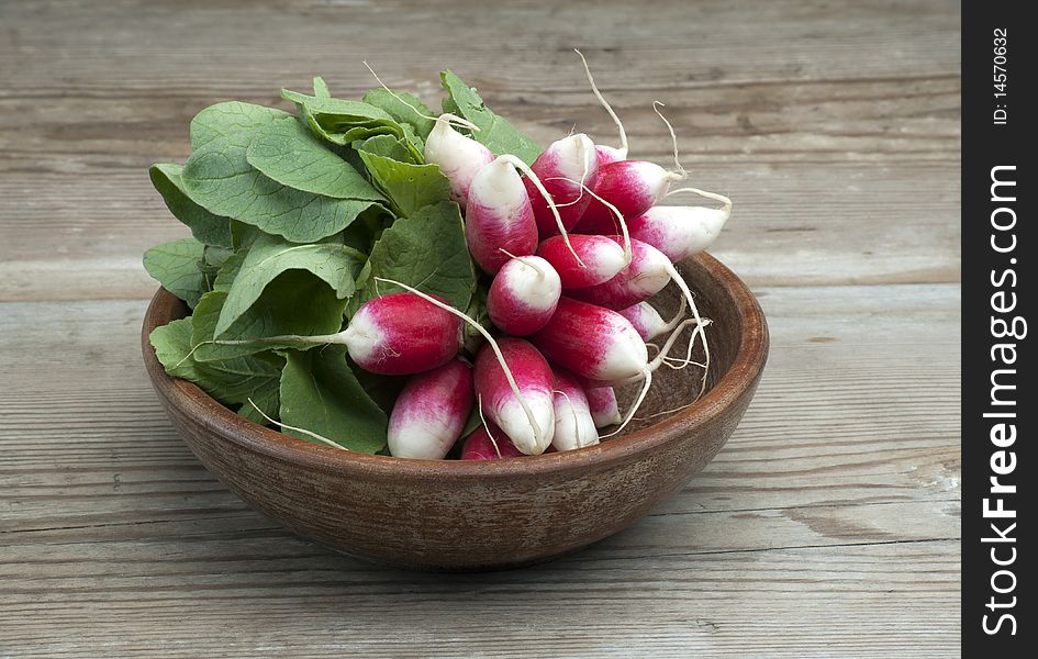
<svg viewBox="0 0 1038 659">
<path fill-rule="evenodd" d="M 188 311 L 161 289 L 144 320 L 144 360 L 170 420 L 205 468 L 299 535 L 408 568 L 513 568 L 572 551 L 644 516 L 713 459 L 746 411 L 768 356 L 760 306 L 711 256 L 680 270 L 701 314 L 715 323 L 710 390 L 655 423 L 563 454 L 411 460 L 345 453 L 245 421 L 167 376 L 155 358 L 148 334 Z M 702 375 L 695 371 L 659 369 L 639 416 L 687 404 Z"/>
</svg>

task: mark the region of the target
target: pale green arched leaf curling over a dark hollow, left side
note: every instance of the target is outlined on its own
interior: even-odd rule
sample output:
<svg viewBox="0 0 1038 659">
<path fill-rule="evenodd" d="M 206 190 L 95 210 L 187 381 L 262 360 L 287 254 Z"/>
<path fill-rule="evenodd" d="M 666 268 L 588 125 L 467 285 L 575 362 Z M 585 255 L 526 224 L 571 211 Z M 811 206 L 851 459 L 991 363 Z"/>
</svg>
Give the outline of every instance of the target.
<svg viewBox="0 0 1038 659">
<path fill-rule="evenodd" d="M 267 286 L 287 270 L 312 272 L 332 287 L 336 298 L 349 298 L 364 261 L 362 254 L 345 245 L 294 245 L 263 236 L 253 244 L 241 273 L 234 278 L 213 334 L 220 338 L 260 298 Z"/>
</svg>

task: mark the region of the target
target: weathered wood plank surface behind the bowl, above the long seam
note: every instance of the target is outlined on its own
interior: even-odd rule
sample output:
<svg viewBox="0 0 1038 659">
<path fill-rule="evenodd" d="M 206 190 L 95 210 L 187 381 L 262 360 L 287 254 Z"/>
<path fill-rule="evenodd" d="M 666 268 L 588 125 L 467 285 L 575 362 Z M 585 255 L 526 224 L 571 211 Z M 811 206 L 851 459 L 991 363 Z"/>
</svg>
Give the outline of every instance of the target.
<svg viewBox="0 0 1038 659">
<path fill-rule="evenodd" d="M 464 2 L 403 13 L 391 3 L 257 3 L 248 15 L 211 2 L 59 8 L 2 9 L 0 300 L 146 294 L 141 253 L 183 232 L 145 167 L 187 156 L 191 115 L 226 98 L 278 103 L 280 86 L 305 87 L 314 72 L 358 94 L 372 86 L 365 57 L 431 101 L 436 69 L 454 66 L 542 141 L 577 124 L 614 142 L 572 45 L 590 46 L 635 156 L 667 163 L 649 101 L 668 103 L 694 183 L 736 200 L 717 253 L 749 281 L 959 277 L 953 3 L 661 3 L 590 45 L 587 12 L 572 4 L 513 3 L 490 15 Z M 596 15 L 611 11 L 624 8 Z M 107 25 L 103 37 L 88 24 Z M 423 48 L 397 47 L 418 26 Z"/>
</svg>

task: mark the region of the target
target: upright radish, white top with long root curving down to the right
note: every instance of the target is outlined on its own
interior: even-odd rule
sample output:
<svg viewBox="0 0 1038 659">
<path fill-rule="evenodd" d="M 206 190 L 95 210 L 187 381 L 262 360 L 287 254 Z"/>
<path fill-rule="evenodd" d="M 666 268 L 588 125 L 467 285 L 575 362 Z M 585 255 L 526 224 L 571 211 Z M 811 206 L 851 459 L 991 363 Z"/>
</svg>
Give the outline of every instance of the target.
<svg viewBox="0 0 1038 659">
<path fill-rule="evenodd" d="M 480 169 L 469 187 L 465 215 L 465 241 L 472 259 L 490 275 L 501 269 L 509 254 L 527 256 L 537 250 L 537 221 L 529 203 L 526 186 L 516 168 L 540 191 L 562 227 L 555 202 L 525 163 L 504 155 Z M 563 239 L 568 239 L 565 236 Z"/>
</svg>

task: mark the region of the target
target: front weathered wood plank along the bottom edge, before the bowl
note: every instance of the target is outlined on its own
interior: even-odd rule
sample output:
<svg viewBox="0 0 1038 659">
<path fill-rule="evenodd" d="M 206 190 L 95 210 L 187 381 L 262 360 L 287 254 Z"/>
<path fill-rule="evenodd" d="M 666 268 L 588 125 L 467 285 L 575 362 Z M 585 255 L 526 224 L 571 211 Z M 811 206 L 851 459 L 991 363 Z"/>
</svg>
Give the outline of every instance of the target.
<svg viewBox="0 0 1038 659">
<path fill-rule="evenodd" d="M 247 536 L 246 536 L 247 537 Z M 244 539 L 244 538 L 243 538 Z M 613 557 L 478 576 L 399 573 L 283 538 L 38 547 L 4 581 L 19 657 L 947 657 L 957 543 Z M 114 549 L 114 550 L 113 550 Z M 237 551 L 228 559 L 228 549 Z M 103 554 L 98 556 L 99 552 Z M 56 565 L 57 563 L 57 565 Z M 46 588 L 41 596 L 41 587 Z"/>
</svg>

